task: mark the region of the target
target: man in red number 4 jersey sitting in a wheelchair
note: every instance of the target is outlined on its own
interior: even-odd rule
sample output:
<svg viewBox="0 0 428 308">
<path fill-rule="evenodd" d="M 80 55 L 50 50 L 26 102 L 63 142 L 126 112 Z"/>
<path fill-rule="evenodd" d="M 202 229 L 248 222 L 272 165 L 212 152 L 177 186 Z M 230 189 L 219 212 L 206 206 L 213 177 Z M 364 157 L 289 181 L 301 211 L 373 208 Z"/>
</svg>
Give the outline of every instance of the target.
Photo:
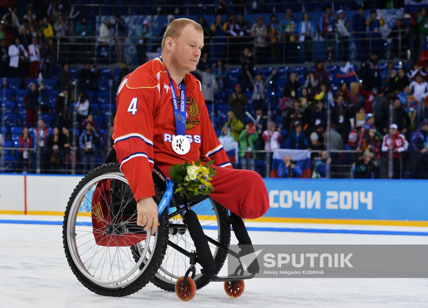
<svg viewBox="0 0 428 308">
<path fill-rule="evenodd" d="M 137 200 L 137 224 L 152 228 L 153 234 L 158 226 L 154 164 L 168 175 L 172 164 L 209 157 L 218 172 L 211 181 L 214 200 L 248 219 L 264 215 L 269 207 L 260 175 L 232 169 L 209 119 L 201 84 L 189 73 L 196 69 L 203 42 L 202 27 L 195 21 L 172 21 L 163 36 L 162 56 L 125 76 L 118 89 L 113 147 Z M 185 104 L 180 103 L 183 95 Z"/>
</svg>

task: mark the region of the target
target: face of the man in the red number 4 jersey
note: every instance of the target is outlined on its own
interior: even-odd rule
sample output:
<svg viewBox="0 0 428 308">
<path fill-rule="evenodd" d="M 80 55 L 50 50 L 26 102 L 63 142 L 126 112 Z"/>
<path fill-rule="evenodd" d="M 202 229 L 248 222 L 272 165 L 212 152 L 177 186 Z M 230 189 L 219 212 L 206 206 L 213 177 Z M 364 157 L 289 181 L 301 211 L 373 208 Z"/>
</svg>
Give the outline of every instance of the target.
<svg viewBox="0 0 428 308">
<path fill-rule="evenodd" d="M 204 47 L 204 33 L 188 24 L 181 35 L 172 40 L 172 62 L 181 71 L 194 71 Z"/>
</svg>

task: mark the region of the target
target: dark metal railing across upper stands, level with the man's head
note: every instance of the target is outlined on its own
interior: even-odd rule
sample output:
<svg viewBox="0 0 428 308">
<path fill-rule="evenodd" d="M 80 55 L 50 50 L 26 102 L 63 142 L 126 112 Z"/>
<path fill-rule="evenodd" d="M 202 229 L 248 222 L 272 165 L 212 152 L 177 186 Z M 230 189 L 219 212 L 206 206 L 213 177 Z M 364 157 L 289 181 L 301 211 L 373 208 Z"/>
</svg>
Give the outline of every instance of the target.
<svg viewBox="0 0 428 308">
<path fill-rule="evenodd" d="M 284 39 L 281 35 L 279 41 L 270 41 L 267 36 L 264 46 L 255 43 L 254 36 L 212 36 L 206 42 L 204 50 L 209 52 L 210 60 L 217 59 L 224 64 L 239 64 L 239 58 L 245 47 L 250 47 L 256 56 L 257 64 L 270 63 L 303 63 L 315 62 L 318 59 L 326 61 L 365 60 L 372 51 L 376 50 L 381 59 L 409 59 L 412 56 L 413 41 L 405 37 L 405 30 L 384 32 L 358 32 L 350 37 L 321 36 L 314 33 L 299 41 L 298 33 L 291 34 L 293 39 Z M 392 38 L 383 38 L 386 35 Z M 396 36 L 395 36 L 396 34 Z M 332 38 L 333 36 L 333 38 Z M 98 36 L 56 36 L 56 62 L 57 63 L 86 63 L 112 64 L 119 62 L 116 58 L 115 48 L 121 47 L 123 53 L 131 63 L 143 64 L 157 51 L 162 38 L 150 37 L 139 43 L 140 37 L 127 37 L 125 41 L 114 41 L 113 36 L 108 38 L 109 43 L 99 42 Z M 323 41 L 324 45 L 318 44 Z M 388 43 L 390 42 L 390 43 Z M 140 48 L 141 47 L 141 48 Z M 77 51 L 77 52 L 76 52 Z M 351 52 L 352 51 L 352 52 Z"/>
</svg>

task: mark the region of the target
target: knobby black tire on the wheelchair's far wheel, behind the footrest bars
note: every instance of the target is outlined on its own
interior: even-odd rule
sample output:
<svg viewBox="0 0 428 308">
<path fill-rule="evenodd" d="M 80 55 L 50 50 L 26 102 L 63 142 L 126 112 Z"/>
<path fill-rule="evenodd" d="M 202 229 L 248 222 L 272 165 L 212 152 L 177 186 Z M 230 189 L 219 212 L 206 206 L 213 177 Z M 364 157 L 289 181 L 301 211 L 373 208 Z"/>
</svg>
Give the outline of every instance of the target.
<svg viewBox="0 0 428 308">
<path fill-rule="evenodd" d="M 220 228 L 220 244 L 223 246 L 229 247 L 230 244 L 230 222 L 229 222 L 229 213 L 226 208 L 220 205 L 217 201 L 210 198 L 212 204 L 214 204 L 218 226 Z M 172 235 L 170 235 L 172 236 Z M 137 247 L 132 246 L 131 250 L 134 255 L 134 259 L 137 259 L 140 256 L 140 253 L 137 250 Z M 223 267 L 224 262 L 227 258 L 227 252 L 217 249 L 216 254 L 214 255 L 214 262 L 217 266 L 217 273 L 220 272 Z M 182 273 L 185 274 L 184 272 Z M 202 287 L 205 287 L 211 281 L 211 275 L 200 274 L 194 279 L 196 288 L 199 290 Z M 154 275 L 151 282 L 155 284 L 155 286 L 160 287 L 163 290 L 169 292 L 175 292 L 175 282 L 167 282 L 160 279 L 157 275 Z"/>
</svg>

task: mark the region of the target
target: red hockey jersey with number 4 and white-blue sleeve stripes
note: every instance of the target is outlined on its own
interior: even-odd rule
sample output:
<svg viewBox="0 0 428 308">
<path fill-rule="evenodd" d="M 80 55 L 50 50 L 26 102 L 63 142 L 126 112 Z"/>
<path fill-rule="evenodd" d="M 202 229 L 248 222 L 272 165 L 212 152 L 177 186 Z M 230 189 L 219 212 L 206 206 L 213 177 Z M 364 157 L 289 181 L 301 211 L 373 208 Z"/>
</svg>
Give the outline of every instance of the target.
<svg viewBox="0 0 428 308">
<path fill-rule="evenodd" d="M 175 137 L 175 118 L 171 88 L 163 62 L 153 59 L 128 74 L 119 86 L 114 120 L 113 147 L 120 169 L 129 182 L 135 199 L 155 195 L 153 164 L 172 165 L 196 161 L 206 156 L 216 166 L 232 168 L 208 117 L 201 83 L 192 74 L 186 83 L 186 137 L 190 151 L 176 154 L 171 147 Z M 174 84 L 178 102 L 180 89 Z"/>
</svg>

